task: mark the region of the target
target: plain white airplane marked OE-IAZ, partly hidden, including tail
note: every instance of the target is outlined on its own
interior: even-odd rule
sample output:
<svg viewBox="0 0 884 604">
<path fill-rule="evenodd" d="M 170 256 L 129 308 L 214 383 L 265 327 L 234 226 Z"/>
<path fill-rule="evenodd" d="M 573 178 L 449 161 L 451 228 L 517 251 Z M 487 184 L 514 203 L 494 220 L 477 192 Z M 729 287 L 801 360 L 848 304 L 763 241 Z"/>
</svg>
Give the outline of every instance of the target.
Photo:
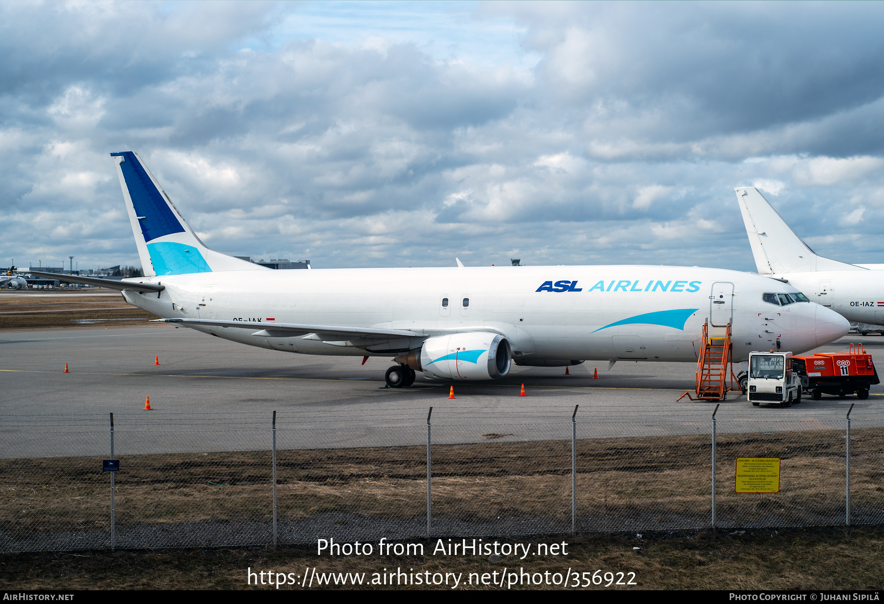
<svg viewBox="0 0 884 604">
<path fill-rule="evenodd" d="M 884 325 L 884 265 L 817 256 L 755 187 L 736 187 L 759 275 L 797 287 L 849 321 Z"/>
</svg>

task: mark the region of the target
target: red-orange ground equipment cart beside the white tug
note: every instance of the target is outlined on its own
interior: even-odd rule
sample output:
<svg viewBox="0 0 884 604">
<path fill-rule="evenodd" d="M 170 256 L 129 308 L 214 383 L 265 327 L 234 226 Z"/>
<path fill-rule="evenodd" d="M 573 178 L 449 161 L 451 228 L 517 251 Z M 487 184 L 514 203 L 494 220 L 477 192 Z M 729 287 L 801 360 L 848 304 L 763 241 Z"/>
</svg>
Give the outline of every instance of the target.
<svg viewBox="0 0 884 604">
<path fill-rule="evenodd" d="M 819 401 L 823 394 L 841 397 L 857 394 L 857 399 L 865 401 L 869 398 L 869 387 L 880 384 L 872 355 L 858 344 L 850 344 L 848 352 L 793 357 L 792 367 L 814 401 Z"/>
</svg>

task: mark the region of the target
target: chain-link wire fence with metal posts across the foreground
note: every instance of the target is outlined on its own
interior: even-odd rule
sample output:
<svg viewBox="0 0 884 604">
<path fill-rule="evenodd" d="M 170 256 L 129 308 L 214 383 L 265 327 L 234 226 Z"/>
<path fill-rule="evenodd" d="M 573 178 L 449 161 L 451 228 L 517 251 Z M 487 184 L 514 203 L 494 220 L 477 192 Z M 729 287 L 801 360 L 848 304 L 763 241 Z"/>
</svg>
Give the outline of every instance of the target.
<svg viewBox="0 0 884 604">
<path fill-rule="evenodd" d="M 113 432 L 116 472 L 103 471 L 108 418 L 42 422 L 0 444 L 0 551 L 884 524 L 884 417 L 413 414 L 354 428 L 129 415 Z M 779 460 L 776 492 L 735 492 L 746 457 Z"/>
</svg>

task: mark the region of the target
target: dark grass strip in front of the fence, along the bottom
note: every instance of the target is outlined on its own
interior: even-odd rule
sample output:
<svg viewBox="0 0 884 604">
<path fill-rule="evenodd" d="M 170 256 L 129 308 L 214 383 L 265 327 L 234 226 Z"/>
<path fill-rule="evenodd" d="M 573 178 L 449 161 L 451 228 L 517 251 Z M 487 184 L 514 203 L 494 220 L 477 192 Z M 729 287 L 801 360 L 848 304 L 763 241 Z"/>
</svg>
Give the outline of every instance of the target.
<svg viewBox="0 0 884 604">
<path fill-rule="evenodd" d="M 505 568 L 512 571 L 523 567 L 535 573 L 546 570 L 564 572 L 570 567 L 581 573 L 599 569 L 636 573 L 637 586 L 607 589 L 854 590 L 878 589 L 884 562 L 884 534 L 880 530 L 747 531 L 742 535 L 701 532 L 682 536 L 644 535 L 643 539 L 622 535 L 545 535 L 499 540 L 522 543 L 566 541 L 568 556 L 530 556 L 524 561 L 510 556 L 498 562 L 489 562 L 485 558 L 432 555 L 320 558 L 316 556 L 316 550 L 294 547 L 276 550 L 269 547 L 176 549 L 115 554 L 0 554 L 0 588 L 274 589 L 268 585 L 248 587 L 247 569 L 251 568 L 253 572 L 293 572 L 297 576 L 303 574 L 306 567 L 316 567 L 317 572 L 366 573 L 401 567 L 422 573 L 427 570 L 464 573 L 463 577 L 467 577 L 470 572 L 500 572 Z M 424 542 L 429 554 L 434 542 Z M 633 547 L 642 549 L 636 551 Z M 390 589 L 390 586 L 385 588 Z M 533 587 L 552 588 L 561 589 L 552 585 Z M 302 588 L 286 585 L 282 589 Z M 362 589 L 371 589 L 371 586 Z M 483 587 L 467 585 L 461 589 Z"/>
</svg>

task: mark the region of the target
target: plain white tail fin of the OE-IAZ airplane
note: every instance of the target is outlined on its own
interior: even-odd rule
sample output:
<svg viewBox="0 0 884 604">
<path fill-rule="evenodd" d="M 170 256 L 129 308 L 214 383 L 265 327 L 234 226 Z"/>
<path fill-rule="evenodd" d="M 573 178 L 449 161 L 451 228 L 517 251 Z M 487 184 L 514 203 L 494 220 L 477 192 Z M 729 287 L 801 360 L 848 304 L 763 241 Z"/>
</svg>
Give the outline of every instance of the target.
<svg viewBox="0 0 884 604">
<path fill-rule="evenodd" d="M 736 187 L 736 201 L 743 213 L 743 223 L 749 235 L 752 256 L 758 274 L 809 271 L 862 271 L 854 264 L 846 264 L 817 256 L 795 234 L 777 210 L 767 203 L 755 187 Z"/>
</svg>

